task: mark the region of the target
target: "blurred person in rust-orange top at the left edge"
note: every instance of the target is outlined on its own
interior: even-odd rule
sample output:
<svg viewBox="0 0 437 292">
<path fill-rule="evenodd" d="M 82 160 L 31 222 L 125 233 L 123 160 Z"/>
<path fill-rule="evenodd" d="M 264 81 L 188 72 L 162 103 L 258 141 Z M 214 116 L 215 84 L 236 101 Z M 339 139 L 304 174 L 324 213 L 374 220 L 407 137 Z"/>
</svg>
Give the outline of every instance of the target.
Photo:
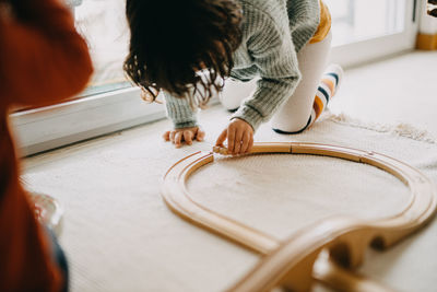
<svg viewBox="0 0 437 292">
<path fill-rule="evenodd" d="M 0 0 L 0 291 L 66 291 L 63 254 L 19 182 L 8 114 L 81 91 L 92 73 L 87 46 L 57 0 Z"/>
</svg>

